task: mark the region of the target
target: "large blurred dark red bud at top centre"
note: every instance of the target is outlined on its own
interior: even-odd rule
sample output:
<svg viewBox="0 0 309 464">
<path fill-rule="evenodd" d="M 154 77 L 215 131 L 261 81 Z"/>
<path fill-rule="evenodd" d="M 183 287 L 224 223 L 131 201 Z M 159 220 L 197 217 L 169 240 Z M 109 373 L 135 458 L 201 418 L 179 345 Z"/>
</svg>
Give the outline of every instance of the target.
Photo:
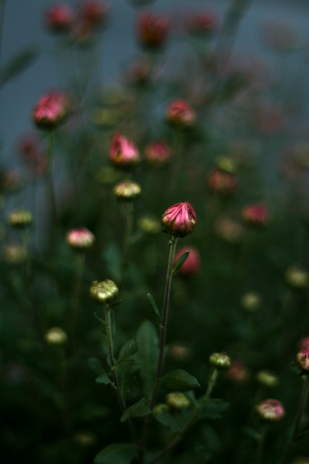
<svg viewBox="0 0 309 464">
<path fill-rule="evenodd" d="M 165 45 L 170 28 L 170 19 L 142 13 L 138 18 L 137 35 L 139 42 L 152 50 Z"/>
</svg>

